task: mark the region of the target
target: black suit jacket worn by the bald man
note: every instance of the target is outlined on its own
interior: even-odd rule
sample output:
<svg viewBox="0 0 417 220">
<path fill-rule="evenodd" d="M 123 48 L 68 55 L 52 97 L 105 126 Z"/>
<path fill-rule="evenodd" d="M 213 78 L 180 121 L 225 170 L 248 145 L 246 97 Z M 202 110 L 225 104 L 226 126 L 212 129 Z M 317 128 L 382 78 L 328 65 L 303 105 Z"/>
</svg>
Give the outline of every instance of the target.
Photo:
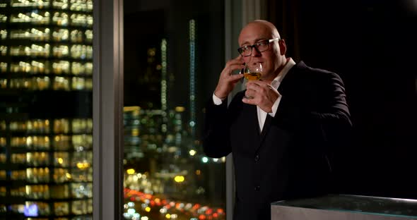
<svg viewBox="0 0 417 220">
<path fill-rule="evenodd" d="M 351 128 L 339 75 L 297 63 L 278 87 L 276 115 L 259 132 L 257 107 L 242 102 L 206 106 L 203 147 L 209 157 L 233 152 L 233 219 L 270 219 L 271 202 L 321 195 L 328 190 L 329 150 Z"/>
</svg>

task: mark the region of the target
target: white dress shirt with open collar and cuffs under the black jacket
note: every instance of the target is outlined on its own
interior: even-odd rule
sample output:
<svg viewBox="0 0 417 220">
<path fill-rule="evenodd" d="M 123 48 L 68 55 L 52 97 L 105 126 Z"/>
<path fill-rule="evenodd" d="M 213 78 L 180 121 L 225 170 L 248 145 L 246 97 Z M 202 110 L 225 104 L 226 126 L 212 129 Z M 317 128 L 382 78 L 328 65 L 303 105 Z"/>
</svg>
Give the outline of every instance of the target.
<svg viewBox="0 0 417 220">
<path fill-rule="evenodd" d="M 279 87 L 279 85 L 281 85 L 281 82 L 282 82 L 283 78 L 287 75 L 288 71 L 290 71 L 290 68 L 292 68 L 294 65 L 295 65 L 295 62 L 293 61 L 293 59 L 289 58 L 287 63 L 286 63 L 286 66 L 284 66 L 284 68 L 281 70 L 281 72 L 279 72 L 278 75 L 276 75 L 276 78 L 274 78 L 274 80 L 272 80 L 272 82 L 271 82 L 271 86 L 274 87 L 275 90 L 278 90 L 278 87 Z M 222 104 L 223 100 L 216 97 L 216 95 L 213 93 L 213 102 L 216 105 L 220 105 L 220 104 Z M 259 106 L 257 106 L 259 130 L 262 131 L 262 128 L 264 128 L 264 123 L 265 123 L 265 120 L 266 120 L 266 114 L 269 114 L 272 117 L 275 116 L 276 111 L 278 109 L 279 102 L 281 102 L 281 95 L 274 102 L 274 105 L 272 106 L 272 112 L 270 112 L 270 113 L 267 113 L 266 111 L 259 108 Z"/>
</svg>

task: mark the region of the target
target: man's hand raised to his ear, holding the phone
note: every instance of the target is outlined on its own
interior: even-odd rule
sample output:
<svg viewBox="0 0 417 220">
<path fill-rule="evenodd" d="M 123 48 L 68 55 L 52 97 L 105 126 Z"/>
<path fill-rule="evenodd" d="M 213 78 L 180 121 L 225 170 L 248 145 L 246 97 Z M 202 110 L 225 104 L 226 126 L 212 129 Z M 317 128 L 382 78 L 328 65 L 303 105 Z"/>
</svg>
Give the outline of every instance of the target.
<svg viewBox="0 0 417 220">
<path fill-rule="evenodd" d="M 235 59 L 228 61 L 225 68 L 220 74 L 218 79 L 218 84 L 214 94 L 220 99 L 225 99 L 228 97 L 228 94 L 232 92 L 233 88 L 236 85 L 236 82 L 243 77 L 243 74 L 232 75 L 232 72 L 241 68 L 245 68 L 243 65 L 242 56 L 237 56 Z"/>
</svg>

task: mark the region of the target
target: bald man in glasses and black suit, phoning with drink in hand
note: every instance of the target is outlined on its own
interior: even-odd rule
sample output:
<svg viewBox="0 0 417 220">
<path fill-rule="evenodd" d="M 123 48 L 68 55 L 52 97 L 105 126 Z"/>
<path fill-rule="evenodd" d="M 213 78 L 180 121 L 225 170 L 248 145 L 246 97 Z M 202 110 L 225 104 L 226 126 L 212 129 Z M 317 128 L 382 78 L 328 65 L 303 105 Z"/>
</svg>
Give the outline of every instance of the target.
<svg viewBox="0 0 417 220">
<path fill-rule="evenodd" d="M 343 142 L 350 115 L 341 78 L 286 58 L 272 23 L 247 24 L 238 41 L 240 56 L 226 63 L 206 106 L 204 152 L 233 152 L 233 219 L 270 219 L 271 202 L 327 193 L 329 150 Z M 232 72 L 245 63 L 262 63 L 262 78 L 247 82 L 228 106 L 243 77 Z"/>
</svg>

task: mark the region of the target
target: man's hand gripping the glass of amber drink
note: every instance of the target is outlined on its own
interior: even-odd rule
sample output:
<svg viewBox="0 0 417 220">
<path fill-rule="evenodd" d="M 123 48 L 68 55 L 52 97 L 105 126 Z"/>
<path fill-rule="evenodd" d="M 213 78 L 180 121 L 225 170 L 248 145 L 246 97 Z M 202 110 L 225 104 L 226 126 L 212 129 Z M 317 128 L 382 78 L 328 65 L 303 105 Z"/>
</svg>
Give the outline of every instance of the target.
<svg viewBox="0 0 417 220">
<path fill-rule="evenodd" d="M 246 97 L 253 97 L 252 99 L 242 99 L 246 104 L 253 104 L 259 106 L 262 110 L 271 113 L 272 106 L 276 99 L 281 96 L 279 92 L 271 85 L 264 81 L 252 80 L 246 84 Z"/>
</svg>

